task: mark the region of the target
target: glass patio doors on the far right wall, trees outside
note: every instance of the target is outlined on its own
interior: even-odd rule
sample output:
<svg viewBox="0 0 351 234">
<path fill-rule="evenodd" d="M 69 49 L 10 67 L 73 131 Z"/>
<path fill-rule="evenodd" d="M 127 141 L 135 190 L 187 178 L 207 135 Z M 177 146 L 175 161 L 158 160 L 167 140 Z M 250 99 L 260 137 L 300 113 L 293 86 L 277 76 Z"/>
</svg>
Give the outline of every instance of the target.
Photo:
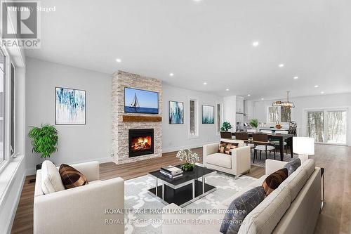
<svg viewBox="0 0 351 234">
<path fill-rule="evenodd" d="M 347 144 L 347 110 L 306 111 L 307 136 L 318 143 Z"/>
</svg>

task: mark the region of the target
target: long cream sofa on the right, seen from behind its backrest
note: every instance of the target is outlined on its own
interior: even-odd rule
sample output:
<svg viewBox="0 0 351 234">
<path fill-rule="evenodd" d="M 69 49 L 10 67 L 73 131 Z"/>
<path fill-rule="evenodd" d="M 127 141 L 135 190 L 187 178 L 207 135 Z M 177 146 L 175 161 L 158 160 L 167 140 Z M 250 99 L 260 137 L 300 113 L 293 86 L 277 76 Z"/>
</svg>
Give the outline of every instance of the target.
<svg viewBox="0 0 351 234">
<path fill-rule="evenodd" d="M 258 178 L 213 208 L 227 209 L 236 197 L 251 188 L 261 186 L 268 175 L 286 164 L 275 160 L 265 162 L 265 176 Z M 321 209 L 321 200 L 320 168 L 315 167 L 314 160 L 307 160 L 246 216 L 240 226 L 239 234 L 313 233 Z M 168 204 L 164 209 L 168 213 L 162 216 L 164 223 L 167 223 L 162 226 L 163 233 L 220 233 L 219 221 L 223 221 L 224 214 L 180 214 L 180 207 L 173 203 Z M 178 213 L 173 212 L 173 209 Z M 174 224 L 173 221 L 179 219 L 190 219 L 192 222 Z M 170 220 L 173 223 L 168 222 Z M 194 220 L 197 223 L 194 223 Z"/>
</svg>

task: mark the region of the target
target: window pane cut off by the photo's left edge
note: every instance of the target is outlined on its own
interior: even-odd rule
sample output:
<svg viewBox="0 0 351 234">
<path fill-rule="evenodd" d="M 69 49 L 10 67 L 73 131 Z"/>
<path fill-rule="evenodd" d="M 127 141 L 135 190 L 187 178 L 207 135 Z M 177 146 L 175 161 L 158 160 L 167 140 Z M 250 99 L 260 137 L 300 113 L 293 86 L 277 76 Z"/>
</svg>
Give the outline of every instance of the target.
<svg viewBox="0 0 351 234">
<path fill-rule="evenodd" d="M 6 58 L 0 49 L 0 162 L 5 159 L 5 80 Z"/>
</svg>

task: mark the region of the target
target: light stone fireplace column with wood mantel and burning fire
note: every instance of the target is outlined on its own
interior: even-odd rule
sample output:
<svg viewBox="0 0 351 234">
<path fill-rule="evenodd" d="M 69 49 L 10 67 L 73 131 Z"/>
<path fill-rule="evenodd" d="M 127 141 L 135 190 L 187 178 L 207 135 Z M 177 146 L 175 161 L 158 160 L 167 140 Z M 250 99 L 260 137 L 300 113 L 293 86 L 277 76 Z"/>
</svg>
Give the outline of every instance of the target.
<svg viewBox="0 0 351 234">
<path fill-rule="evenodd" d="M 159 114 L 124 112 L 124 88 L 159 93 Z M 116 164 L 162 156 L 162 82 L 128 72 L 112 76 L 112 155 Z M 147 119 L 149 118 L 149 119 Z M 133 120 L 131 120 L 133 119 Z"/>
</svg>

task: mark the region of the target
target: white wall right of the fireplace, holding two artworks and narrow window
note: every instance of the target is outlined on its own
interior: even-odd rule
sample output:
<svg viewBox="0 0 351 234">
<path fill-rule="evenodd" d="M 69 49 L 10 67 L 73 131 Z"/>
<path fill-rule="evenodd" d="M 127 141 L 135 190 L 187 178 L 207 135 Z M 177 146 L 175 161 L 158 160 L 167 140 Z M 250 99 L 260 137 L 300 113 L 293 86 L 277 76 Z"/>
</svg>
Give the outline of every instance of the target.
<svg viewBox="0 0 351 234">
<path fill-rule="evenodd" d="M 185 148 L 195 148 L 204 145 L 205 143 L 212 143 L 219 140 L 217 133 L 217 103 L 223 103 L 223 98 L 213 96 L 207 93 L 191 91 L 187 89 L 180 89 L 173 86 L 162 84 L 163 86 L 163 114 L 162 114 L 162 144 L 164 152 L 171 152 Z M 190 98 L 198 100 L 198 115 L 197 121 L 199 124 L 199 137 L 190 138 L 190 113 L 189 105 Z M 168 101 L 175 100 L 184 103 L 184 124 L 168 124 Z M 201 123 L 201 105 L 215 106 L 215 124 Z"/>
</svg>

